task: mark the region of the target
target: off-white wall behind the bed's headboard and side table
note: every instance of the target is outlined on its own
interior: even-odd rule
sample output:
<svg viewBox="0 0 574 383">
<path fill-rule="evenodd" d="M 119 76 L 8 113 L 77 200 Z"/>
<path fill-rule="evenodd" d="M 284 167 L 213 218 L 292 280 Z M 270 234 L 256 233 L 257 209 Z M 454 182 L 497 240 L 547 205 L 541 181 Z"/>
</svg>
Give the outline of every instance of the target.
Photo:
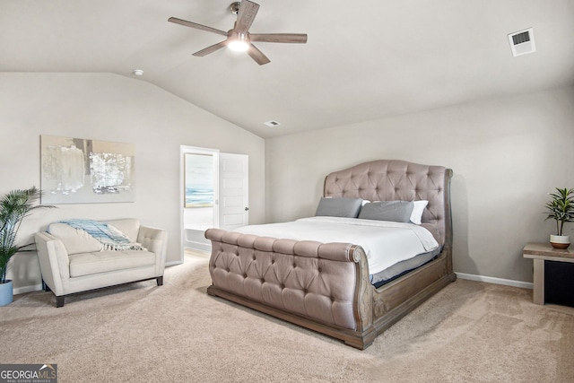
<svg viewBox="0 0 574 383">
<path fill-rule="evenodd" d="M 456 272 L 531 282 L 521 250 L 553 231 L 547 193 L 574 187 L 574 88 L 268 139 L 267 221 L 312 215 L 326 174 L 378 159 L 454 170 Z"/>
</svg>

